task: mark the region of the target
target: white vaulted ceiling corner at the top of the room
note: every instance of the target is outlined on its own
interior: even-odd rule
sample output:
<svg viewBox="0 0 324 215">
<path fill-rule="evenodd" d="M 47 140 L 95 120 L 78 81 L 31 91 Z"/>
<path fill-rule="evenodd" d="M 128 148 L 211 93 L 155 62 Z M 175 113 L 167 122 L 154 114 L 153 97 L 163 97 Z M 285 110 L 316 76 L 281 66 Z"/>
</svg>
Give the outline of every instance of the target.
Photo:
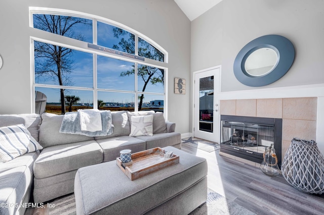
<svg viewBox="0 0 324 215">
<path fill-rule="evenodd" d="M 222 0 L 174 0 L 190 21 L 205 13 Z"/>
</svg>

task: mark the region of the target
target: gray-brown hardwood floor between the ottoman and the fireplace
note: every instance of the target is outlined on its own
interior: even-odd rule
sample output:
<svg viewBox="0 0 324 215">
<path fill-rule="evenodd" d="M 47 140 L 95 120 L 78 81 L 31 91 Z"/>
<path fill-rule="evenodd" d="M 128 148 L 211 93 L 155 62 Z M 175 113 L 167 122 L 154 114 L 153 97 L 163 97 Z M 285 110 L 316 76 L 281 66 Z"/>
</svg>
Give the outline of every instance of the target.
<svg viewBox="0 0 324 215">
<path fill-rule="evenodd" d="M 187 144 L 182 150 L 208 161 L 208 187 L 255 214 L 324 214 L 324 195 L 298 191 L 280 175 L 270 177 L 259 168 Z M 233 214 L 233 213 L 231 213 Z M 239 212 L 235 214 L 240 214 Z"/>
</svg>

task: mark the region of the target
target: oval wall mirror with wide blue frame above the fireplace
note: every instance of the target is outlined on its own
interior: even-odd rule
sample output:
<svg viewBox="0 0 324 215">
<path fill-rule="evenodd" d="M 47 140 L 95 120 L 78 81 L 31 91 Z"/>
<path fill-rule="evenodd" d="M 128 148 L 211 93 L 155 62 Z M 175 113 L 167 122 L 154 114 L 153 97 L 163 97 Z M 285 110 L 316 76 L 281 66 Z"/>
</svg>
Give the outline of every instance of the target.
<svg viewBox="0 0 324 215">
<path fill-rule="evenodd" d="M 245 45 L 234 61 L 234 75 L 242 84 L 265 86 L 284 76 L 295 59 L 290 40 L 280 35 L 265 35 Z"/>
</svg>

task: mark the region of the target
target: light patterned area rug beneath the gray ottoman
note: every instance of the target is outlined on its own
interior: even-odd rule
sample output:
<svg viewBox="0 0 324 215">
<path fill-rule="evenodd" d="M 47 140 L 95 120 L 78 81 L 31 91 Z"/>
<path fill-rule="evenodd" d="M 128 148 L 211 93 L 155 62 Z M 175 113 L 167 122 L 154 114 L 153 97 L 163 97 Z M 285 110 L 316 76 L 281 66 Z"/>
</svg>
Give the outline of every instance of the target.
<svg viewBox="0 0 324 215">
<path fill-rule="evenodd" d="M 74 194 L 66 195 L 62 198 L 58 198 L 52 202 L 53 205 L 48 209 L 49 215 L 74 215 L 75 212 L 75 199 Z M 229 202 L 224 196 L 208 188 L 207 201 L 202 206 L 193 210 L 190 215 L 206 215 L 206 214 L 224 214 L 224 215 L 253 215 L 255 213 L 250 210 L 236 204 L 235 202 Z"/>
</svg>

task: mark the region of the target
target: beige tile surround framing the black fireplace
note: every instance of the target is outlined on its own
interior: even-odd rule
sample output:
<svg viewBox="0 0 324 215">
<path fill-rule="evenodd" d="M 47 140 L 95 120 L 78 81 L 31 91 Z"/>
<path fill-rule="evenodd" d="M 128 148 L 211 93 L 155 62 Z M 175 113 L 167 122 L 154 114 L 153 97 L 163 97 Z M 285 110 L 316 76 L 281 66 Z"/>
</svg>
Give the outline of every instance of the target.
<svg viewBox="0 0 324 215">
<path fill-rule="evenodd" d="M 220 114 L 282 119 L 282 159 L 294 137 L 316 140 L 317 97 L 221 100 Z M 260 164 L 221 153 L 256 167 Z"/>
</svg>

